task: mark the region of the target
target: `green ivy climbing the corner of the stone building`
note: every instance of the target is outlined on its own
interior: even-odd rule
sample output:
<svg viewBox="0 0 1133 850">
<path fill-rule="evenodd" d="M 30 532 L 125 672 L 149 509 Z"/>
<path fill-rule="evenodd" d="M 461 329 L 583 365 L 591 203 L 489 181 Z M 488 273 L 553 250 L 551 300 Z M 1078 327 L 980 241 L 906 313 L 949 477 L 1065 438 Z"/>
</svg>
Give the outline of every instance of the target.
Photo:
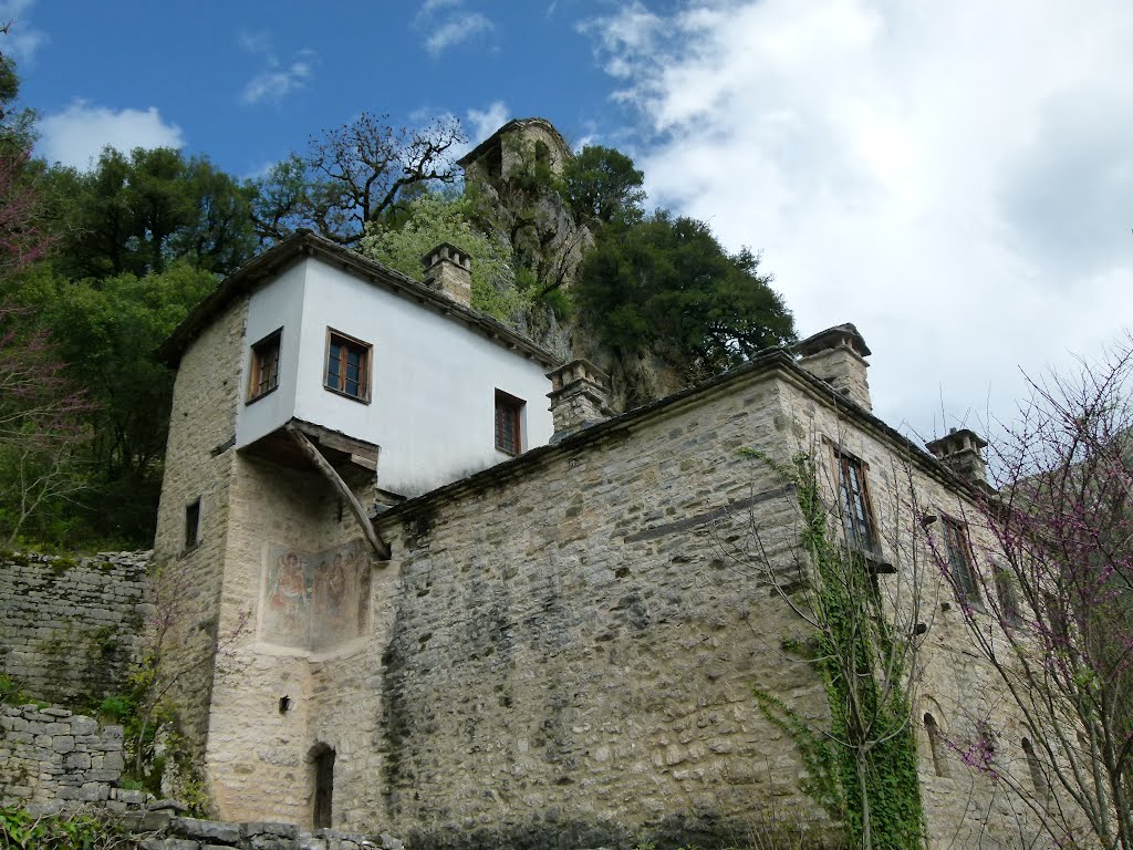
<svg viewBox="0 0 1133 850">
<path fill-rule="evenodd" d="M 784 641 L 783 648 L 818 672 L 830 720 L 828 726 L 816 724 L 757 686 L 759 709 L 794 742 L 809 774 L 802 790 L 843 824 L 851 845 L 920 848 L 923 811 L 906 681 L 911 671 L 902 645 L 908 638 L 893 634 L 866 555 L 832 536 L 813 458 L 799 453 L 783 468 L 760 453 L 744 453 L 770 464 L 798 501 L 799 545 L 810 567 L 804 615 L 815 631 L 804 641 Z"/>
</svg>

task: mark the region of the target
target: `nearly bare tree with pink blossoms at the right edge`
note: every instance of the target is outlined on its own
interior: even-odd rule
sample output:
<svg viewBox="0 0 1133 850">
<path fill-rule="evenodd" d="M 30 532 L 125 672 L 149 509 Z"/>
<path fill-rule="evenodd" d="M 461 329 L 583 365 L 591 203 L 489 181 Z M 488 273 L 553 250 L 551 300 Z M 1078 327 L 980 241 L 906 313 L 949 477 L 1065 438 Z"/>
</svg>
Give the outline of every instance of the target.
<svg viewBox="0 0 1133 850">
<path fill-rule="evenodd" d="M 1028 771 L 1004 781 L 1053 838 L 1107 850 L 1133 848 L 1131 376 L 1126 338 L 1031 380 L 991 442 L 996 492 L 965 518 L 993 545 L 972 546 L 968 572 L 931 538 L 974 647 L 1026 724 Z"/>
</svg>

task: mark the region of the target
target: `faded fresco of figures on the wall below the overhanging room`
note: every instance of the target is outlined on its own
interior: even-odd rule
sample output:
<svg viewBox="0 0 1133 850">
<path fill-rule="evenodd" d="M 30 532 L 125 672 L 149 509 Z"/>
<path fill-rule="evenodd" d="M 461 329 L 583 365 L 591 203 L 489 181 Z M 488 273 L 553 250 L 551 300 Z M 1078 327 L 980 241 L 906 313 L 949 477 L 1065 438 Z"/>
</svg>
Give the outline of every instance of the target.
<svg viewBox="0 0 1133 850">
<path fill-rule="evenodd" d="M 316 553 L 271 546 L 264 571 L 264 643 L 317 652 L 365 631 L 369 560 L 359 543 Z"/>
</svg>

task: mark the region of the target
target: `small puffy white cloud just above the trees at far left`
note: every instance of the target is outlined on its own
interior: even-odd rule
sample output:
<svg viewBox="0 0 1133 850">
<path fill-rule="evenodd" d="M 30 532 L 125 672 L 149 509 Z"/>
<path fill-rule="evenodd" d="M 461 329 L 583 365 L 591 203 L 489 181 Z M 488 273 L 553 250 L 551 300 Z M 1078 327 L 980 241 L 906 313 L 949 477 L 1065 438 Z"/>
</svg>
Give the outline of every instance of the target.
<svg viewBox="0 0 1133 850">
<path fill-rule="evenodd" d="M 181 147 L 181 128 L 162 119 L 156 108 L 112 110 L 75 101 L 39 124 L 36 153 L 48 162 L 86 169 L 107 145 L 122 152 L 135 147 Z"/>
</svg>

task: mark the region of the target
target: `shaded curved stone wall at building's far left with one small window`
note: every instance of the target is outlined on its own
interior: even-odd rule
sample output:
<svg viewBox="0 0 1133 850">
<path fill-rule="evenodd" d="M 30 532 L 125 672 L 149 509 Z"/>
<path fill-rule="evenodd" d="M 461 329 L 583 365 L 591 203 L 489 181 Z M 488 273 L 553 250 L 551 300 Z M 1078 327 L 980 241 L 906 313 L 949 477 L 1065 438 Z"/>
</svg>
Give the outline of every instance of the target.
<svg viewBox="0 0 1133 850">
<path fill-rule="evenodd" d="M 236 452 L 241 365 L 247 356 L 247 299 L 235 303 L 185 352 L 170 413 L 154 573 L 163 621 L 163 674 L 177 677 L 170 698 L 199 756 L 208 725 L 213 654 L 220 640 L 220 593 Z M 186 507 L 199 499 L 198 543 L 185 546 Z"/>
</svg>

